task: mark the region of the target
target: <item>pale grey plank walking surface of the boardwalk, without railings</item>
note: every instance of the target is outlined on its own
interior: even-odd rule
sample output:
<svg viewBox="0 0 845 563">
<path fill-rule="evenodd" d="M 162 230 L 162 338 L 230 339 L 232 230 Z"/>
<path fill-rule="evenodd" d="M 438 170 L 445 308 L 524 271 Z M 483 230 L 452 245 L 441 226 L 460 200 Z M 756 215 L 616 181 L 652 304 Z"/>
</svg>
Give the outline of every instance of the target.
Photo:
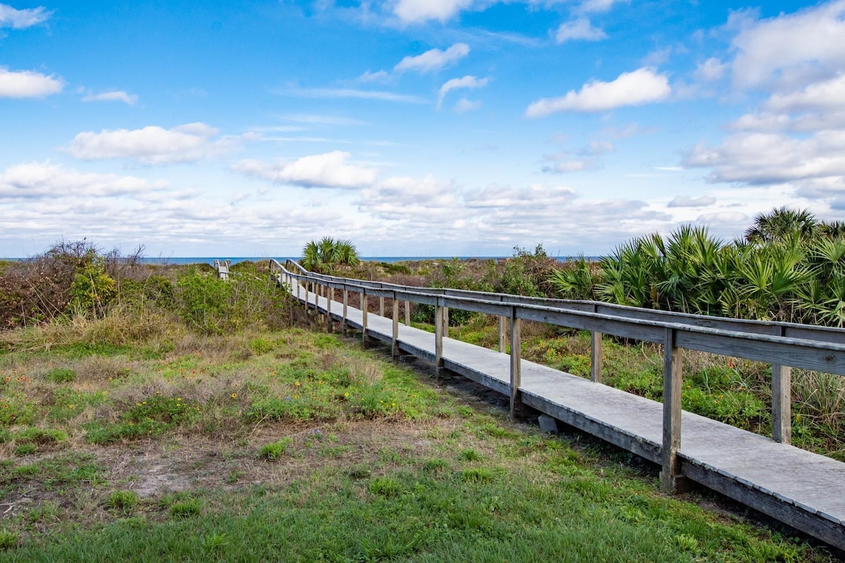
<svg viewBox="0 0 845 563">
<path fill-rule="evenodd" d="M 299 296 L 343 321 L 342 303 L 314 293 Z M 363 327 L 363 312 L 347 307 L 346 324 Z M 393 321 L 369 312 L 367 336 L 390 343 Z M 435 358 L 432 333 L 399 324 L 401 351 Z M 510 394 L 510 356 L 443 341 L 444 368 L 494 391 Z M 662 403 L 521 360 L 522 400 L 542 413 L 660 463 Z M 697 414 L 683 412 L 679 456 L 685 477 L 845 549 L 845 463 L 780 444 Z"/>
</svg>

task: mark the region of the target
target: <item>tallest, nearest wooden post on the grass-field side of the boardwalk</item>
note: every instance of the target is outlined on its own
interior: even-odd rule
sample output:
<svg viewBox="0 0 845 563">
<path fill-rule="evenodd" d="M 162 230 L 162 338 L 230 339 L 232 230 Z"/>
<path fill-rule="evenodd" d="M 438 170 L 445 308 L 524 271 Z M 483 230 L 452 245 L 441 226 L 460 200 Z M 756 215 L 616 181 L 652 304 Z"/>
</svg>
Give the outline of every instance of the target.
<svg viewBox="0 0 845 563">
<path fill-rule="evenodd" d="M 675 345 L 675 331 L 666 329 L 663 344 L 663 447 L 660 489 L 673 494 L 690 488 L 681 474 L 681 389 L 683 388 L 683 350 Z"/>
</svg>

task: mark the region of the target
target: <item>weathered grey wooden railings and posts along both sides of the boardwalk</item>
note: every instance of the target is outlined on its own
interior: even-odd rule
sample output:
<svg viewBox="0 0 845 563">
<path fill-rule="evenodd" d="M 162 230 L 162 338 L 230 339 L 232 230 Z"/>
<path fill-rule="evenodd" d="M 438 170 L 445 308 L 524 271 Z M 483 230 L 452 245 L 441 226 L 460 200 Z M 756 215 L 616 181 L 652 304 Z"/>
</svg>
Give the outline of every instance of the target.
<svg viewBox="0 0 845 563">
<path fill-rule="evenodd" d="M 384 316 L 384 299 L 393 302 L 393 353 L 399 354 L 399 302 L 405 301 L 405 323 L 410 324 L 409 304 L 435 307 L 434 367 L 443 370 L 443 338 L 448 331 L 449 310 L 461 309 L 499 317 L 499 351 L 504 352 L 506 325 L 510 324 L 510 412 L 521 409 L 521 322 L 535 321 L 588 330 L 591 338 L 591 379 L 601 382 L 602 334 L 635 338 L 662 344 L 663 432 L 661 488 L 667 492 L 682 486 L 678 451 L 681 443 L 681 390 L 683 350 L 757 360 L 772 365 L 772 436 L 789 443 L 791 428 L 790 368 L 845 375 L 845 330 L 785 322 L 760 322 L 686 315 L 594 301 L 553 300 L 477 291 L 418 288 L 367 280 L 338 278 L 310 273 L 288 261 L 287 268 L 270 261 L 281 283 L 288 284 L 299 297 L 303 288 L 308 296 L 324 296 L 330 304 L 335 290 L 343 292 L 341 319 L 346 325 L 348 293 L 361 295 L 362 333 L 367 338 L 367 298 L 379 297 Z M 325 293 L 325 295 L 323 295 Z M 316 298 L 314 302 L 316 303 Z M 330 307 L 330 305 L 329 305 Z M 331 311 L 326 311 L 331 317 Z M 505 321 L 507 319 L 507 321 Z"/>
</svg>

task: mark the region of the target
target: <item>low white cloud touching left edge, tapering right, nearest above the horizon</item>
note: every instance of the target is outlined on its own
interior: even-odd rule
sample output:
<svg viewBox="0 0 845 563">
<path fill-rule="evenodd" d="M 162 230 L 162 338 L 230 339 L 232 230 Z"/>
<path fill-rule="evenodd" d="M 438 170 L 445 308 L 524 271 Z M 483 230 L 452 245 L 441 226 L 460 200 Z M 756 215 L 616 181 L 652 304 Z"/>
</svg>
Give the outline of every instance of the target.
<svg viewBox="0 0 845 563">
<path fill-rule="evenodd" d="M 161 182 L 82 172 L 50 162 L 9 166 L 0 174 L 0 196 L 12 199 L 112 197 L 144 194 L 162 187 L 165 184 Z"/>
</svg>

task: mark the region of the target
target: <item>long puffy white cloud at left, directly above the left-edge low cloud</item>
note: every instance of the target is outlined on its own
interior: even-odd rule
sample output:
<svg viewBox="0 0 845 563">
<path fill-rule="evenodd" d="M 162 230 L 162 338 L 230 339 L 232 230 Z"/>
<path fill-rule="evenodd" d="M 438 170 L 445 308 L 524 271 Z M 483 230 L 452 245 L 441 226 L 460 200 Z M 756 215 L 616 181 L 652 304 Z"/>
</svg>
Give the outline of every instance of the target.
<svg viewBox="0 0 845 563">
<path fill-rule="evenodd" d="M 103 129 L 79 133 L 64 148 L 81 160 L 133 159 L 148 164 L 191 162 L 223 154 L 237 145 L 232 138 L 211 138 L 218 129 L 205 123 L 188 123 L 165 129 L 148 126 L 141 129 Z"/>
</svg>

